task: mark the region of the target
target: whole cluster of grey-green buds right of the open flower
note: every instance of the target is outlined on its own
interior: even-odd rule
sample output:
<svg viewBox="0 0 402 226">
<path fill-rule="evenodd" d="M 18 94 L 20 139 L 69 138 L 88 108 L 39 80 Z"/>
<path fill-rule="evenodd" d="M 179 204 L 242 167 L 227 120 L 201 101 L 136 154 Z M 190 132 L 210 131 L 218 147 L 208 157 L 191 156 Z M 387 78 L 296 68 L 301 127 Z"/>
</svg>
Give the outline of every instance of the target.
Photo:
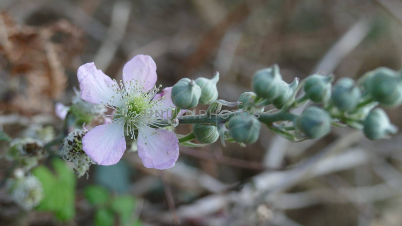
<svg viewBox="0 0 402 226">
<path fill-rule="evenodd" d="M 219 74 L 212 79 L 181 79 L 172 88 L 172 101 L 180 109 L 200 103 L 210 104 L 207 114 L 219 112 L 222 103 L 228 102 L 217 100 L 218 80 Z M 378 68 L 356 82 L 348 77 L 338 79 L 334 85 L 333 81 L 333 75 L 316 73 L 300 82 L 295 78 L 289 84 L 283 81 L 278 65 L 258 70 L 252 79 L 253 92 L 241 94 L 235 102 L 237 112 L 227 114 L 228 120 L 218 120 L 215 125 L 194 124 L 193 134 L 200 143 L 208 144 L 219 136 L 221 140 L 255 143 L 261 124 L 292 141 L 321 138 L 330 133 L 332 124 L 339 123 L 361 130 L 371 140 L 397 132 L 384 110 L 375 107 L 397 107 L 402 103 L 400 71 Z M 301 89 L 304 94 L 297 97 Z M 270 104 L 276 109 L 264 112 Z M 313 106 L 304 107 L 300 115 L 292 112 L 306 104 Z"/>
</svg>

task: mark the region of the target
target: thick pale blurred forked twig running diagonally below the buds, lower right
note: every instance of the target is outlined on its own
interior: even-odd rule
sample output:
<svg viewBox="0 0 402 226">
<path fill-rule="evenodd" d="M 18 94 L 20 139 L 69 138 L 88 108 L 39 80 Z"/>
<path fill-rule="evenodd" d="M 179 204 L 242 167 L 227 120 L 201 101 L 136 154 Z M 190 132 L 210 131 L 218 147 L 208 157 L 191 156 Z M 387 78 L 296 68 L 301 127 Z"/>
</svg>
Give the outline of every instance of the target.
<svg viewBox="0 0 402 226">
<path fill-rule="evenodd" d="M 209 195 L 202 197 L 197 202 L 189 205 L 182 205 L 178 208 L 178 216 L 187 218 L 211 214 L 220 208 L 229 205 L 230 202 L 236 203 L 238 208 L 255 207 L 260 202 L 265 202 L 265 195 L 269 194 L 269 199 L 273 202 L 280 202 L 279 193 L 302 180 L 326 175 L 336 171 L 351 169 L 358 165 L 367 163 L 370 160 L 369 154 L 361 149 L 350 149 L 342 152 L 351 145 L 357 143 L 362 137 L 360 132 L 350 134 L 334 141 L 327 149 L 310 157 L 308 160 L 295 166 L 293 169 L 281 172 L 263 172 L 253 177 L 246 183 L 240 191 L 232 191 L 228 194 Z M 326 157 L 326 159 L 324 159 Z M 265 194 L 265 195 L 264 195 Z"/>
</svg>

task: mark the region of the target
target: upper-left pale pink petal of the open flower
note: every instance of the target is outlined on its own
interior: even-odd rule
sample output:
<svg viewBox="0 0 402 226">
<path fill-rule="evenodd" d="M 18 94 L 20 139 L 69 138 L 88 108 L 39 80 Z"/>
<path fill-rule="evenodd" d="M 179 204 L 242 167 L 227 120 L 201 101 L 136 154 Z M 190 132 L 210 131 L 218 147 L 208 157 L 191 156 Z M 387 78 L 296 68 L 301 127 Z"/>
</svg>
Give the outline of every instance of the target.
<svg viewBox="0 0 402 226">
<path fill-rule="evenodd" d="M 107 104 L 113 97 L 111 87 L 115 82 L 102 70 L 96 69 L 95 64 L 86 63 L 78 68 L 81 98 L 92 104 Z"/>
</svg>

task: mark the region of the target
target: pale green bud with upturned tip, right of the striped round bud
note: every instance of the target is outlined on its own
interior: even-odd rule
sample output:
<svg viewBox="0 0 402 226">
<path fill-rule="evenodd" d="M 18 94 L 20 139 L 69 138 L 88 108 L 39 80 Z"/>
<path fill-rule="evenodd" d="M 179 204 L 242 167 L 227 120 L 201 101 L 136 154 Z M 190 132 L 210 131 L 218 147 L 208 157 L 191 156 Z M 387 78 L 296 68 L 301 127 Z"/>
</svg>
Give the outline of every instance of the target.
<svg viewBox="0 0 402 226">
<path fill-rule="evenodd" d="M 219 81 L 219 72 L 215 72 L 212 79 L 199 77 L 195 79 L 195 83 L 201 87 L 200 104 L 212 104 L 218 98 L 218 90 L 216 83 Z"/>
</svg>

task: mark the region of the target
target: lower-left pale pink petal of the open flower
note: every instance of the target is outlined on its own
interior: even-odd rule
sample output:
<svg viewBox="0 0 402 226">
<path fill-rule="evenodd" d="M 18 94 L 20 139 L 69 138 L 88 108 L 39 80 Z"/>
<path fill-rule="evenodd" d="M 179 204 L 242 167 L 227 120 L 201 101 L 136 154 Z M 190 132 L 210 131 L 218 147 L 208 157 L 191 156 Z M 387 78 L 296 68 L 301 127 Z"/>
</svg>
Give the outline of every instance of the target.
<svg viewBox="0 0 402 226">
<path fill-rule="evenodd" d="M 126 149 L 123 129 L 116 122 L 96 126 L 82 138 L 82 149 L 99 165 L 116 164 Z"/>
</svg>

